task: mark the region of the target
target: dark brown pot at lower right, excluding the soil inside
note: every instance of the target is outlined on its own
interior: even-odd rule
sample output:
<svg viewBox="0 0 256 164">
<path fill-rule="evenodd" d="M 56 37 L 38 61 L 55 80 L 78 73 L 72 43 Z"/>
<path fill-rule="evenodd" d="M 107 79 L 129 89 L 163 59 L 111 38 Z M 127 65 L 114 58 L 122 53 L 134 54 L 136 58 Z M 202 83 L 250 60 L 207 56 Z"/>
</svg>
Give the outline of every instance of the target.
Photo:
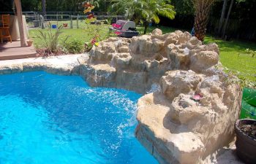
<svg viewBox="0 0 256 164">
<path fill-rule="evenodd" d="M 236 131 L 236 152 L 244 163 L 256 163 L 256 140 L 250 138 L 239 128 L 240 125 L 252 125 L 256 120 L 241 119 L 235 124 Z"/>
</svg>

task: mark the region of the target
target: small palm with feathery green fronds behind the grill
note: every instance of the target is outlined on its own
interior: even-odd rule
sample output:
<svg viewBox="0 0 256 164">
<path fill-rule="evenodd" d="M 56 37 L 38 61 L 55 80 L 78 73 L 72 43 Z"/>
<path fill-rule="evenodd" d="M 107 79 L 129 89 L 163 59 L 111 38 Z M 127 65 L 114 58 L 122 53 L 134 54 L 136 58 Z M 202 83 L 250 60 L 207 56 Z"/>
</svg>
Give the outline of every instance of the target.
<svg viewBox="0 0 256 164">
<path fill-rule="evenodd" d="M 126 12 L 130 20 L 135 23 L 143 23 L 144 34 L 146 34 L 149 23 L 159 23 L 159 15 L 174 19 L 176 12 L 174 7 L 167 4 L 166 0 L 113 0 L 112 7 L 117 13 Z"/>
</svg>

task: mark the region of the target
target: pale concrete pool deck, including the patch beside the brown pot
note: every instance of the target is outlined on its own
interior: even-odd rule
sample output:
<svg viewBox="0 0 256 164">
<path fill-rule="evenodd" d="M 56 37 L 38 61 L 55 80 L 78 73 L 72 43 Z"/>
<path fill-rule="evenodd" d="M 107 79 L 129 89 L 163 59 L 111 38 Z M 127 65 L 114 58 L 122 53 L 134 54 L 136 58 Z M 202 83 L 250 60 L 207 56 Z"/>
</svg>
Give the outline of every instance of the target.
<svg viewBox="0 0 256 164">
<path fill-rule="evenodd" d="M 88 55 L 60 55 L 50 58 L 25 58 L 16 60 L 0 60 L 0 74 L 12 74 L 23 71 L 48 71 L 53 74 L 80 75 L 80 64 L 88 60 Z M 223 147 L 211 157 L 212 164 L 242 164 L 236 156 L 234 143 L 230 147 Z"/>
</svg>

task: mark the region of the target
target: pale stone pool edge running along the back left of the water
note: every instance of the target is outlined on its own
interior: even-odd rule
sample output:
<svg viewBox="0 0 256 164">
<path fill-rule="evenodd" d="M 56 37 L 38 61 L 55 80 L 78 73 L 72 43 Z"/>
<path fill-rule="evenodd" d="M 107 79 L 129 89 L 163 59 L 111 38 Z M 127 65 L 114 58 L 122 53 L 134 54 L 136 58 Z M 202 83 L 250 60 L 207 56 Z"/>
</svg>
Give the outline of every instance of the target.
<svg viewBox="0 0 256 164">
<path fill-rule="evenodd" d="M 24 58 L 15 60 L 0 60 L 0 74 L 14 74 L 23 71 L 47 71 L 61 75 L 79 75 L 79 58 L 86 54 L 59 55 L 48 58 Z"/>
</svg>

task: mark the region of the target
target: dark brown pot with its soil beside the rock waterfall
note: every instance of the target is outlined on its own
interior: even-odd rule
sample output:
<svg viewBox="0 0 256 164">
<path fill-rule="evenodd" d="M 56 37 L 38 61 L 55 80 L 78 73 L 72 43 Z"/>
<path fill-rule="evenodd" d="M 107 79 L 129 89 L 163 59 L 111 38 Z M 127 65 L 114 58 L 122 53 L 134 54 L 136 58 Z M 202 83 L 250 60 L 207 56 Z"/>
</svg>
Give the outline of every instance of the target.
<svg viewBox="0 0 256 164">
<path fill-rule="evenodd" d="M 256 163 L 256 120 L 236 121 L 236 152 L 245 163 Z"/>
</svg>

